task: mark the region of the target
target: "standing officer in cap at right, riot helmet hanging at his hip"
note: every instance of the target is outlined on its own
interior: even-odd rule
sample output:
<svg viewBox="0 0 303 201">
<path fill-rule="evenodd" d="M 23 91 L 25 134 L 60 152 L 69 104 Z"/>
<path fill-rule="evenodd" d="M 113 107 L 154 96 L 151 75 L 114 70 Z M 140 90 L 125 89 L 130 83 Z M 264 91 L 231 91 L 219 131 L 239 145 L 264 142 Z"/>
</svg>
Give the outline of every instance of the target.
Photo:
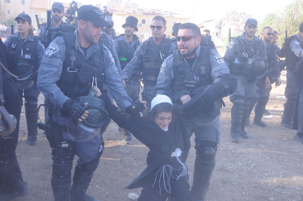
<svg viewBox="0 0 303 201">
<path fill-rule="evenodd" d="M 256 77 L 265 76 L 265 88 L 270 86 L 269 74 L 265 66 L 266 46 L 255 36 L 257 20 L 248 19 L 244 26 L 245 32 L 234 38 L 225 51 L 224 60 L 235 75 L 238 87 L 229 96 L 233 103 L 231 108 L 231 141 L 238 142 L 239 137 L 248 139 L 245 129 L 250 101 L 256 94 Z M 248 60 L 250 59 L 250 60 Z"/>
</svg>

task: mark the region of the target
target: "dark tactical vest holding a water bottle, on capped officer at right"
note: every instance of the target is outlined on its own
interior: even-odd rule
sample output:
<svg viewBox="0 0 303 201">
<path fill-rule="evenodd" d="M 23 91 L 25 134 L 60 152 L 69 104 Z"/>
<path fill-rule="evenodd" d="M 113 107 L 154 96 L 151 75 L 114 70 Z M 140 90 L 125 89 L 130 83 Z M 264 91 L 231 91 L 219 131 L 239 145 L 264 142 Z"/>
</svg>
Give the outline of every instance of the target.
<svg viewBox="0 0 303 201">
<path fill-rule="evenodd" d="M 248 44 L 244 39 L 240 39 L 240 36 L 237 38 L 239 41 L 238 51 L 234 59 L 238 58 L 239 64 L 235 66 L 234 63 L 231 63 L 231 74 L 247 75 L 246 64 L 248 58 L 252 58 L 261 52 L 261 41 L 256 39 L 253 44 Z"/>
</svg>

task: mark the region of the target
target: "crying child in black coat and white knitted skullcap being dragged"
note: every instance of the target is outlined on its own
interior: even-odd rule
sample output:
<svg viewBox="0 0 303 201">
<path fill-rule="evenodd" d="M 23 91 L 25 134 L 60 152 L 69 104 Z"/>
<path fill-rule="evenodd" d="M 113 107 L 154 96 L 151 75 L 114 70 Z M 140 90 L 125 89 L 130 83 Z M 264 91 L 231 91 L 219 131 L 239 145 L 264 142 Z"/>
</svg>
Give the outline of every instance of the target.
<svg viewBox="0 0 303 201">
<path fill-rule="evenodd" d="M 119 127 L 129 130 L 149 148 L 147 167 L 127 186 L 128 189 L 143 187 L 138 201 L 190 201 L 188 166 L 185 164 L 190 141 L 184 124 L 174 112 L 171 99 L 157 95 L 151 101 L 151 111 L 123 117 L 118 108 L 95 87 L 99 98 L 105 102 L 109 117 Z M 142 101 L 143 103 L 143 101 Z"/>
</svg>

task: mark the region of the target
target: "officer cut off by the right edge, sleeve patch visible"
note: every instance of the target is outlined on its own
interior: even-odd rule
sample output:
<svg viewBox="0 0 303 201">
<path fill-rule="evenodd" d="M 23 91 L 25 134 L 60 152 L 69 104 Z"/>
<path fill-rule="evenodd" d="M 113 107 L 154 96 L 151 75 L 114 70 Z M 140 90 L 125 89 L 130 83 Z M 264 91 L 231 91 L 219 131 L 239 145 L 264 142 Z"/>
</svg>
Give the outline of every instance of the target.
<svg viewBox="0 0 303 201">
<path fill-rule="evenodd" d="M 281 125 L 286 128 L 292 129 L 294 117 L 295 105 L 297 100 L 298 87 L 294 80 L 294 70 L 296 64 L 298 65 L 301 58 L 303 58 L 303 22 L 299 27 L 300 33 L 291 36 L 287 39 L 286 46 L 286 87 L 285 87 L 285 97 L 287 98 L 284 104 L 284 111 L 282 115 Z"/>
</svg>

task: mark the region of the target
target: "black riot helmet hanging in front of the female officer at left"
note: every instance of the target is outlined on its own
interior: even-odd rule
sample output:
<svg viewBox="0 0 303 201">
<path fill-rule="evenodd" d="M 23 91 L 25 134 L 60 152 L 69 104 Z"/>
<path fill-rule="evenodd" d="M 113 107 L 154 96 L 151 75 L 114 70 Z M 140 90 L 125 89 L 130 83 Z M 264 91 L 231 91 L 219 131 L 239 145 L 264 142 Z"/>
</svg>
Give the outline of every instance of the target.
<svg viewBox="0 0 303 201">
<path fill-rule="evenodd" d="M 18 79 L 16 85 L 20 89 L 28 89 L 33 86 L 34 80 L 32 79 L 33 67 L 24 61 L 19 61 L 18 67 L 12 72 Z"/>
</svg>

